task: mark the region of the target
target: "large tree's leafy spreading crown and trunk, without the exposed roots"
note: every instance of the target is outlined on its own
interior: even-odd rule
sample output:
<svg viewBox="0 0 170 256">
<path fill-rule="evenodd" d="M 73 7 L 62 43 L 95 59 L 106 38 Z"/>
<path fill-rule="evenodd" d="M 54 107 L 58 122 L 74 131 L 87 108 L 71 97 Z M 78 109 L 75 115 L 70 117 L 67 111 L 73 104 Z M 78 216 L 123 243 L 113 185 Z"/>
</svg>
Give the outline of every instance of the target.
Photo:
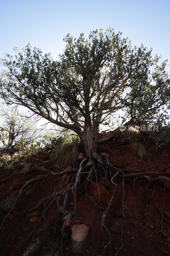
<svg viewBox="0 0 170 256">
<path fill-rule="evenodd" d="M 152 49 L 132 47 L 121 34 L 109 28 L 91 32 L 88 39 L 67 35 L 60 60 L 29 44 L 23 52 L 15 48 L 16 59 L 6 54 L 3 60 L 2 98 L 76 132 L 90 162 L 101 163 L 97 145 L 109 136 L 100 136 L 100 124 L 118 110 L 125 113 L 124 125 L 157 120 L 170 103 L 167 60 L 159 66 Z"/>
</svg>

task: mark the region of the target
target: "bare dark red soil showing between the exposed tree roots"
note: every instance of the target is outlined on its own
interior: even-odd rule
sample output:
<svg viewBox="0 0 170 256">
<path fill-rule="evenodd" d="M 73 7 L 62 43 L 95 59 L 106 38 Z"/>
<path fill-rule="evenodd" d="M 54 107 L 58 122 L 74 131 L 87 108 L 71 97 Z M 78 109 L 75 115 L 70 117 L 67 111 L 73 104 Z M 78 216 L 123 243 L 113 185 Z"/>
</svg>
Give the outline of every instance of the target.
<svg viewBox="0 0 170 256">
<path fill-rule="evenodd" d="M 108 142 L 104 145 L 106 147 L 106 152 L 109 154 L 108 160 L 110 163 L 123 164 L 123 167 L 118 165 L 118 168 L 121 170 L 126 170 L 126 173 L 140 173 L 140 172 L 159 172 L 158 174 L 148 174 L 150 177 L 164 176 L 165 174 L 160 174 L 160 172 L 166 173 L 166 177 L 169 177 L 170 173 L 170 150 L 168 147 L 163 147 L 155 150 L 154 145 L 150 144 L 145 145 L 147 154 L 143 160 L 140 160 L 137 157 L 134 157 L 131 151 L 129 150 L 130 145 L 115 146 L 113 142 Z M 39 162 L 43 159 L 43 156 L 39 156 Z M 117 162 L 115 162 L 117 161 Z M 20 171 L 20 170 L 19 170 Z M 14 172 L 17 172 L 15 170 Z M 8 177 L 10 174 L 6 174 L 3 171 L 0 172 L 0 180 Z M 10 179 L 0 183 L 1 187 L 1 196 L 0 203 L 7 197 L 14 195 L 17 196 L 19 190 L 22 188 L 23 184 L 28 180 L 36 177 L 37 175 L 44 174 L 33 172 L 28 174 L 26 178 L 21 177 L 20 174 L 11 177 Z M 68 176 L 67 176 L 68 177 Z M 66 177 L 66 181 L 67 181 Z M 124 179 L 124 210 L 127 213 L 125 216 L 125 226 L 123 228 L 122 243 L 123 248 L 118 255 L 122 256 L 143 256 L 143 255 L 162 255 L 159 251 L 159 248 L 164 251 L 170 251 L 170 241 L 167 236 L 170 236 L 170 226 L 169 219 L 164 217 L 163 219 L 163 232 L 167 234 L 164 235 L 161 233 L 161 214 L 170 212 L 170 189 L 165 188 L 164 184 L 159 182 L 156 183 L 155 188 L 155 199 L 159 206 L 159 209 L 156 206 L 155 201 L 152 199 L 152 192 L 154 190 L 154 185 L 140 179 L 133 183 L 134 177 Z M 58 210 L 56 203 L 48 209 L 45 214 L 45 219 L 41 219 L 39 225 L 33 232 L 33 236 L 29 239 L 31 230 L 37 224 L 41 216 L 41 208 L 34 214 L 39 214 L 35 217 L 29 218 L 29 215 L 26 213 L 22 214 L 18 218 L 18 213 L 24 212 L 27 209 L 33 208 L 33 206 L 38 203 L 38 201 L 46 196 L 52 195 L 54 189 L 61 182 L 62 177 L 52 177 L 48 176 L 44 179 L 40 179 L 37 182 L 29 184 L 21 194 L 18 204 L 13 212 L 10 213 L 10 216 L 4 222 L 4 228 L 0 231 L 0 255 L 1 256 L 20 256 L 22 251 L 27 247 L 31 242 L 33 236 L 38 236 L 43 246 L 47 246 L 52 242 L 53 244 L 58 244 L 61 248 L 63 255 L 71 255 L 70 247 L 71 232 L 68 231 L 66 242 L 61 244 L 61 235 L 58 234 L 54 236 L 53 233 L 53 224 L 57 218 Z M 100 206 L 106 209 L 107 204 L 110 200 L 110 195 L 112 189 L 107 187 L 105 179 L 98 176 L 98 182 L 102 185 L 105 190 L 100 187 Z M 116 188 L 115 199 L 109 208 L 107 215 L 105 217 L 105 225 L 109 228 L 115 222 L 120 221 L 124 224 L 123 218 L 115 215 L 115 210 L 118 206 L 118 202 L 122 198 L 123 188 L 122 188 L 122 179 L 116 180 L 117 185 L 120 186 Z M 134 186 L 135 184 L 135 186 Z M 101 229 L 101 216 L 103 211 L 98 207 L 94 206 L 92 201 L 85 197 L 85 193 L 81 193 L 81 189 L 77 192 L 77 220 L 81 222 L 86 221 L 86 225 L 89 225 L 89 235 L 86 242 L 86 247 L 84 255 L 87 256 L 96 256 L 100 254 L 101 245 L 108 241 L 108 234 L 104 229 Z M 119 192 L 120 190 L 120 192 Z M 26 192 L 31 191 L 30 197 Z M 107 193 L 107 192 L 108 193 Z M 96 202 L 99 201 L 97 186 L 90 184 L 87 190 L 88 196 L 91 197 Z M 63 201 L 61 200 L 62 204 Z M 69 194 L 69 203 L 67 210 L 70 211 L 73 209 L 74 198 L 72 194 Z M 30 213 L 29 213 L 30 214 Z M 4 213 L 0 215 L 2 220 L 5 216 Z M 33 223 L 31 223 L 31 220 Z M 30 227 L 28 232 L 23 232 L 26 227 Z M 144 236 L 140 232 L 141 229 L 144 233 Z M 121 246 L 121 235 L 111 234 L 111 244 L 107 247 L 105 255 L 115 255 L 117 248 Z M 157 246 L 157 247 L 156 247 Z M 69 249 L 68 249 L 69 248 Z M 67 250 L 66 250 L 67 249 Z M 40 252 L 41 255 L 42 252 Z M 37 255 L 37 256 L 38 256 Z"/>
</svg>

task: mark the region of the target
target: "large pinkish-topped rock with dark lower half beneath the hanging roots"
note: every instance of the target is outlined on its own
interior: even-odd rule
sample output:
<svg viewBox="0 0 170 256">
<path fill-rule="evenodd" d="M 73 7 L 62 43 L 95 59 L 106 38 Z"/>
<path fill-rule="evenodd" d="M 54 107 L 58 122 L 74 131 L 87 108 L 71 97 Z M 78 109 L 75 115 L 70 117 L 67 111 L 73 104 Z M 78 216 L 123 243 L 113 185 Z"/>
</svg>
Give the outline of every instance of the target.
<svg viewBox="0 0 170 256">
<path fill-rule="evenodd" d="M 74 255 L 81 255 L 85 248 L 85 241 L 88 235 L 89 227 L 87 227 L 85 224 L 77 224 L 72 226 L 71 231 L 71 252 Z"/>
</svg>

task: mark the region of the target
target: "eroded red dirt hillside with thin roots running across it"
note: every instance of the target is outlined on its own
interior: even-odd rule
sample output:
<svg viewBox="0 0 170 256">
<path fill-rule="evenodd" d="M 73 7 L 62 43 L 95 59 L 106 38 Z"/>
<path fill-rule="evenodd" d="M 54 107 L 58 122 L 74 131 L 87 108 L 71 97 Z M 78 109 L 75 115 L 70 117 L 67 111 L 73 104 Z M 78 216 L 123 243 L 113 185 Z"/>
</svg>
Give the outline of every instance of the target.
<svg viewBox="0 0 170 256">
<path fill-rule="evenodd" d="M 134 156 L 131 145 L 123 138 L 116 138 L 99 148 L 101 155 L 107 156 L 115 171 L 117 168 L 124 174 L 122 178 L 119 176 L 115 179 L 115 195 L 104 218 L 104 225 L 111 233 L 111 243 L 107 246 L 105 255 L 115 255 L 116 251 L 117 255 L 121 256 L 170 255 L 170 183 L 166 180 L 170 178 L 170 148 L 163 146 L 156 150 L 152 140 L 141 143 L 146 149 L 143 159 Z M 63 166 L 62 169 L 66 167 Z M 77 167 L 78 163 L 68 166 L 67 169 Z M 106 181 L 109 174 L 105 176 L 96 172 L 99 185 L 92 180 L 88 188 L 83 186 L 87 175 L 81 177 L 76 194 L 75 220 L 71 217 L 67 221 L 64 229 L 66 239 L 63 241 L 54 191 L 57 191 L 56 188 L 61 182 L 63 188 L 66 188 L 73 175 L 68 171 L 63 178 L 54 176 L 51 172 L 59 173 L 61 170 L 53 166 L 42 154 L 27 160 L 25 167 L 21 165 L 10 171 L 1 170 L 1 222 L 9 213 L 0 231 L 1 256 L 22 255 L 35 237 L 39 238 L 41 245 L 35 254 L 24 255 L 50 255 L 50 243 L 55 244 L 51 248 L 58 248 L 58 254 L 54 255 L 73 255 L 70 229 L 72 224 L 84 223 L 88 226 L 83 255 L 100 255 L 102 244 L 108 243 L 109 235 L 105 228 L 101 228 L 101 218 L 113 192 L 110 183 Z M 157 177 L 162 178 L 157 180 Z M 18 193 L 20 196 L 16 205 L 8 212 Z M 45 200 L 41 200 L 43 198 Z M 60 205 L 63 205 L 63 200 L 61 197 Z M 35 207 L 38 202 L 39 205 Z M 66 211 L 74 211 L 74 196 L 71 193 L 68 196 Z M 114 225 L 117 222 L 117 226 Z"/>
</svg>

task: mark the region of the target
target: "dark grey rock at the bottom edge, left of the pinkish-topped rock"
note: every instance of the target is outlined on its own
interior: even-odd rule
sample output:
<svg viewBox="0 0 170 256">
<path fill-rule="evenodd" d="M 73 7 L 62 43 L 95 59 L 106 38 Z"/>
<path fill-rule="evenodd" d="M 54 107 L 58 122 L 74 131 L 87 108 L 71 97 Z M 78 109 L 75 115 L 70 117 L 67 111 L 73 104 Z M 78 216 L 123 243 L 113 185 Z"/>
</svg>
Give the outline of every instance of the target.
<svg viewBox="0 0 170 256">
<path fill-rule="evenodd" d="M 26 250 L 22 253 L 22 256 L 34 256 L 40 252 L 42 245 L 38 237 L 34 237 L 32 243 L 28 245 Z"/>
</svg>

